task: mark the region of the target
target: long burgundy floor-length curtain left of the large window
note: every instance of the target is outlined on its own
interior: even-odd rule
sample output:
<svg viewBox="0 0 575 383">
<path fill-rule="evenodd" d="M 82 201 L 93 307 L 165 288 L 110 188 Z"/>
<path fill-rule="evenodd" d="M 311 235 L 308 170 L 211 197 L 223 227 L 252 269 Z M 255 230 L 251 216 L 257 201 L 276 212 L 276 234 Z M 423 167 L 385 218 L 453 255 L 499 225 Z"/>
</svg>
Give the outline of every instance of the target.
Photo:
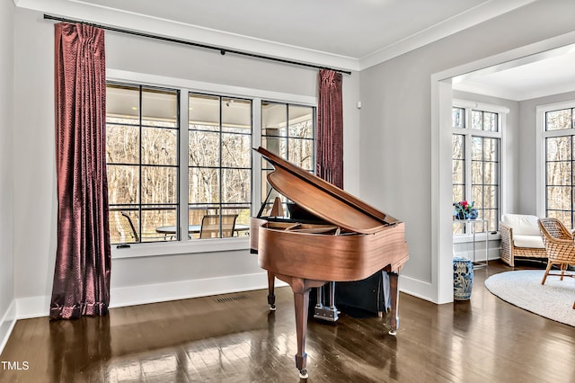
<svg viewBox="0 0 575 383">
<path fill-rule="evenodd" d="M 103 316 L 110 303 L 104 31 L 55 25 L 57 254 L 50 317 Z"/>
</svg>

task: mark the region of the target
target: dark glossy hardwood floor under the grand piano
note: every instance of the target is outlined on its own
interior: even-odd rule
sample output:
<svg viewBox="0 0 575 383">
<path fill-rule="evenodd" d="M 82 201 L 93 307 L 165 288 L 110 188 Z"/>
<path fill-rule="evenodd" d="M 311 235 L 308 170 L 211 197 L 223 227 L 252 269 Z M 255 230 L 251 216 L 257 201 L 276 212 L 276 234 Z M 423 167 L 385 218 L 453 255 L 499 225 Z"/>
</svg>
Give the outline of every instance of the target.
<svg viewBox="0 0 575 383">
<path fill-rule="evenodd" d="M 541 267 L 518 268 L 534 266 Z M 487 276 L 508 270 L 499 262 L 475 270 L 469 301 L 438 306 L 401 294 L 397 337 L 376 316 L 310 319 L 307 381 L 575 381 L 575 328 L 485 289 Z M 300 381 L 292 293 L 276 292 L 275 312 L 267 291 L 257 290 L 112 308 L 76 321 L 20 320 L 0 356 L 0 381 Z"/>
</svg>

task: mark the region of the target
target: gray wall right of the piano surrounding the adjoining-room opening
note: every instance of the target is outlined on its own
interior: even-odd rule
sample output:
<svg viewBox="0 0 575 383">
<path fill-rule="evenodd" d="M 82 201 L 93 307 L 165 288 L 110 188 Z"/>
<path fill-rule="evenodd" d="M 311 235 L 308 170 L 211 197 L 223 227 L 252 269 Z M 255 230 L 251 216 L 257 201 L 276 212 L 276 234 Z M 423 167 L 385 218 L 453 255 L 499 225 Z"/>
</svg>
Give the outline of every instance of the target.
<svg viewBox="0 0 575 383">
<path fill-rule="evenodd" d="M 436 221 L 429 218 L 431 76 L 573 31 L 574 13 L 575 2 L 535 2 L 360 72 L 359 183 L 369 201 L 407 223 L 410 260 L 403 288 L 433 297 L 425 289 L 438 283 L 432 275 Z M 517 183 L 522 188 L 525 177 Z"/>
</svg>

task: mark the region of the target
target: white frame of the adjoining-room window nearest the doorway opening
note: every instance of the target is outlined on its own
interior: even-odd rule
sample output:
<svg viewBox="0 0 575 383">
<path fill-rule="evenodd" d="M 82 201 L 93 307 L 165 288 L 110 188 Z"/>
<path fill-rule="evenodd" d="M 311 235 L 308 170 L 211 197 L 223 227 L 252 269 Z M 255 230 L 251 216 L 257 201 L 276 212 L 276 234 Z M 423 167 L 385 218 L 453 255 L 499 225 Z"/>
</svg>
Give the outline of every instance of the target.
<svg viewBox="0 0 575 383">
<path fill-rule="evenodd" d="M 490 103 L 484 103 L 484 102 L 473 102 L 473 101 L 468 101 L 468 100 L 462 100 L 462 99 L 453 99 L 452 102 L 452 111 L 453 108 L 461 108 L 464 109 L 464 128 L 456 128 L 453 124 L 453 121 L 451 123 L 451 138 L 453 140 L 453 136 L 454 135 L 463 135 L 464 136 L 464 199 L 465 200 L 469 200 L 471 195 L 473 195 L 473 185 L 472 185 L 472 163 L 473 163 L 473 158 L 472 158 L 472 146 L 471 146 L 471 141 L 473 139 L 473 137 L 482 137 L 482 138 L 497 138 L 499 139 L 499 192 L 498 192 L 498 200 L 499 200 L 499 216 L 502 214 L 502 211 L 504 211 L 504 206 L 505 206 L 505 201 L 503 196 L 506 195 L 505 194 L 505 189 L 506 189 L 506 185 L 505 185 L 505 130 L 506 130 L 506 126 L 507 126 L 507 114 L 509 114 L 509 109 L 500 105 L 494 105 L 494 104 L 490 104 Z M 497 132 L 493 132 L 493 131 L 486 131 L 486 130 L 479 130 L 479 129 L 472 129 L 471 128 L 471 119 L 472 119 L 472 111 L 483 111 L 483 112 L 491 112 L 491 113 L 497 113 L 498 115 L 498 127 L 499 130 Z M 453 156 L 452 156 L 452 160 L 451 160 L 452 164 L 453 164 Z M 452 189 L 453 189 L 453 175 L 452 175 Z M 456 202 L 456 201 L 454 201 Z M 493 223 L 490 221 L 489 222 L 490 226 L 493 225 Z M 491 235 L 495 232 L 497 233 L 497 235 L 499 235 L 500 233 L 500 229 L 499 229 L 499 218 L 496 220 L 496 222 L 494 223 L 495 227 L 497 228 L 497 230 L 493 231 L 493 230 L 486 230 L 487 231 L 487 235 L 489 235 L 491 237 Z M 459 225 L 461 226 L 461 225 Z M 467 227 L 468 225 L 465 225 L 464 227 L 464 233 L 461 234 L 453 234 L 453 241 L 454 244 L 456 243 L 464 243 L 467 242 L 469 240 L 469 238 L 471 238 L 473 236 L 472 234 L 472 230 L 471 227 Z M 476 234 L 478 240 L 479 238 L 481 238 L 482 236 L 485 236 L 486 232 L 482 231 L 482 232 L 478 232 Z"/>
</svg>

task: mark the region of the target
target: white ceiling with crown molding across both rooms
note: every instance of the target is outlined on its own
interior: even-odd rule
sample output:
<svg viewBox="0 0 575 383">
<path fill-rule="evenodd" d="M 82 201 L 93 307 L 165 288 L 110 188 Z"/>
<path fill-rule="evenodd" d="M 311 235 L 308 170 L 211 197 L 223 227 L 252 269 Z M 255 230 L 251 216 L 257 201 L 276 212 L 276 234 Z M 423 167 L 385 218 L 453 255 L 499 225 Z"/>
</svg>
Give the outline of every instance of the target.
<svg viewBox="0 0 575 383">
<path fill-rule="evenodd" d="M 66 18 L 362 70 L 535 0 L 13 1 Z M 560 53 L 460 76 L 454 87 L 512 100 L 570 91 L 575 53 Z"/>
</svg>

